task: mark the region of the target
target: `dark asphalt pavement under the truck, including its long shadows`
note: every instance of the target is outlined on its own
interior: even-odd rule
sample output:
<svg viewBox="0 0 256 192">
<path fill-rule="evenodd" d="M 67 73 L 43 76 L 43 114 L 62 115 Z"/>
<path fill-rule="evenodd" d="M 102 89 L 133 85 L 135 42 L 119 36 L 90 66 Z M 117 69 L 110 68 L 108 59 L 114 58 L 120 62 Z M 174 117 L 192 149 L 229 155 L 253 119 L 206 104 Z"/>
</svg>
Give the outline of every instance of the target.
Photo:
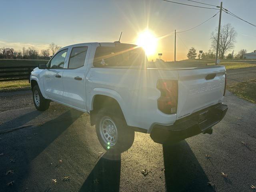
<svg viewBox="0 0 256 192">
<path fill-rule="evenodd" d="M 88 115 L 56 103 L 38 112 L 27 96 L 26 107 L 0 113 L 0 132 L 6 132 L 0 134 L 1 192 L 250 192 L 256 186 L 256 105 L 230 92 L 229 110 L 212 135 L 162 146 L 136 133 L 116 160 L 100 146 Z"/>
</svg>

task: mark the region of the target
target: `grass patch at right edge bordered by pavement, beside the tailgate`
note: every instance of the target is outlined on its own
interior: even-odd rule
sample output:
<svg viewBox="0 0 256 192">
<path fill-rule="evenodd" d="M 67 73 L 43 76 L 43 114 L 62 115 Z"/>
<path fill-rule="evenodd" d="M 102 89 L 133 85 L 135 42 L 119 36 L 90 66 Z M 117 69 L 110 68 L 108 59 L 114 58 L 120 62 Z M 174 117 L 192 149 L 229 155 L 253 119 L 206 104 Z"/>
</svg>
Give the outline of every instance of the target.
<svg viewBox="0 0 256 192">
<path fill-rule="evenodd" d="M 227 89 L 240 98 L 256 104 L 256 79 L 227 85 Z"/>
</svg>

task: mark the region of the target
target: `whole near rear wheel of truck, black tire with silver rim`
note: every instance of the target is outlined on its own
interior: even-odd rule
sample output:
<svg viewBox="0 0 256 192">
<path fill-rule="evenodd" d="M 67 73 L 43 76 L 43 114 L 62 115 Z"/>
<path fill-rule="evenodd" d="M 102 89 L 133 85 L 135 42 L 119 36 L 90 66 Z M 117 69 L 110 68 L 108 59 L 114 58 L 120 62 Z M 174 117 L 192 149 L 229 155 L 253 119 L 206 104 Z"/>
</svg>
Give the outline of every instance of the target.
<svg viewBox="0 0 256 192">
<path fill-rule="evenodd" d="M 102 147 L 111 154 L 128 150 L 134 142 L 134 130 L 126 125 L 120 113 L 100 110 L 97 114 L 96 133 Z"/>
</svg>

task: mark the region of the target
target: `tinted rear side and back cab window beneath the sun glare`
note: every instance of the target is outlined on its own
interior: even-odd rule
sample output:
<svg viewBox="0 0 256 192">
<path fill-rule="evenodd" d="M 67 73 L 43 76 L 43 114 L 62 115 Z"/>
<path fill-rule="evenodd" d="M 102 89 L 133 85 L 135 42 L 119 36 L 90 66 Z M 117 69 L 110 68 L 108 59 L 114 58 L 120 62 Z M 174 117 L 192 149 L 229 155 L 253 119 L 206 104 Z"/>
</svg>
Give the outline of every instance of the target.
<svg viewBox="0 0 256 192">
<path fill-rule="evenodd" d="M 99 46 L 94 55 L 94 67 L 146 66 L 144 50 L 136 45 Z"/>
</svg>

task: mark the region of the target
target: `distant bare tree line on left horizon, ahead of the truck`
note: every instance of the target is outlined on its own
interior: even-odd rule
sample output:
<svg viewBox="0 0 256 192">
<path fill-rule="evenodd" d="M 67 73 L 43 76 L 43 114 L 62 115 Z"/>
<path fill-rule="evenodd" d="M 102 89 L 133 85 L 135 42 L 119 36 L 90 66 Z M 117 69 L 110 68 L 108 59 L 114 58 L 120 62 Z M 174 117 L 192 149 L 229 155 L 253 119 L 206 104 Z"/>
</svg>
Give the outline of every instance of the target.
<svg viewBox="0 0 256 192">
<path fill-rule="evenodd" d="M 0 59 L 49 59 L 53 56 L 61 46 L 49 44 L 48 48 L 42 49 L 40 52 L 30 46 L 28 48 L 23 47 L 22 50 L 14 50 L 14 48 L 3 47 L 0 48 Z"/>
</svg>

